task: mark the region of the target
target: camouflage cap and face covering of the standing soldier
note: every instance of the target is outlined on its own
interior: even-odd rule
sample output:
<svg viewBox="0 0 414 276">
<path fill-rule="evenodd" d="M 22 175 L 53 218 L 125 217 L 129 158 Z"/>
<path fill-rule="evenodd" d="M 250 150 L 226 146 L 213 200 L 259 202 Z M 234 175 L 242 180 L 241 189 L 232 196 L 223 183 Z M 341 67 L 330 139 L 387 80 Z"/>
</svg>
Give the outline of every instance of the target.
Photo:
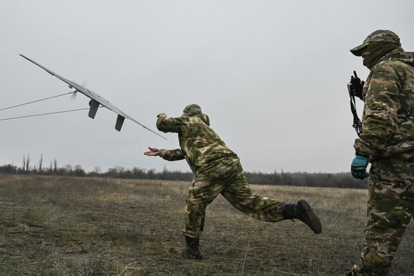
<svg viewBox="0 0 414 276">
<path fill-rule="evenodd" d="M 366 37 L 361 45 L 350 51 L 358 57 L 365 53 L 363 63 L 372 69 L 382 57 L 397 48 L 401 48 L 401 43 L 399 43 L 399 37 L 396 33 L 391 30 L 375 30 Z"/>
</svg>

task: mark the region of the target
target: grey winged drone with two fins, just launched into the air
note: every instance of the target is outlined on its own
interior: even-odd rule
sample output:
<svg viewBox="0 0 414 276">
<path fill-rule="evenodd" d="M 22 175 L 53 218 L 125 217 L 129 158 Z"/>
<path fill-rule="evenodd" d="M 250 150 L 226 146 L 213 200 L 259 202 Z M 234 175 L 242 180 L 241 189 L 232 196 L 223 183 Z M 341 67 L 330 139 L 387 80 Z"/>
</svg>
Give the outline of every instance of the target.
<svg viewBox="0 0 414 276">
<path fill-rule="evenodd" d="M 86 89 L 86 87 L 84 87 L 80 84 L 77 84 L 76 82 L 72 82 L 70 80 L 65 79 L 64 77 L 62 77 L 60 75 L 57 75 L 57 73 L 55 73 L 53 71 L 50 71 L 48 68 L 46 68 L 44 66 L 41 66 L 40 64 L 38 64 L 34 60 L 32 60 L 28 57 L 25 57 L 24 55 L 21 55 L 21 57 L 24 57 L 25 59 L 28 59 L 29 62 L 32 62 L 32 63 L 36 64 L 40 68 L 43 68 L 46 72 L 50 73 L 50 75 L 54 75 L 59 80 L 62 80 L 63 82 L 66 82 L 66 84 L 68 84 L 69 86 L 75 88 L 78 92 L 86 95 L 86 97 L 91 98 L 91 102 L 89 102 L 89 104 L 91 106 L 91 108 L 89 109 L 89 114 L 88 114 L 89 117 L 95 118 L 95 115 L 97 113 L 97 109 L 99 108 L 100 104 L 102 104 L 107 109 L 110 109 L 111 111 L 117 113 L 117 120 L 116 120 L 116 124 L 115 124 L 115 129 L 117 131 L 121 131 L 122 124 L 124 123 L 125 118 L 127 118 L 127 119 L 129 119 L 133 122 L 136 122 L 141 127 L 144 127 L 144 129 L 147 129 L 147 130 L 151 131 L 153 134 L 156 134 L 156 135 L 158 135 L 158 136 L 160 136 L 164 139 L 167 139 L 164 136 L 161 136 L 160 134 L 156 133 L 156 131 L 153 131 L 149 127 L 146 127 L 145 125 L 142 125 L 140 122 L 138 122 L 137 120 L 135 120 L 131 116 L 126 115 L 124 112 L 122 112 L 120 109 L 115 107 L 115 105 L 111 104 L 111 102 L 109 102 L 109 100 L 106 100 L 101 95 L 98 95 L 97 93 L 95 93 L 95 92 L 93 92 L 89 89 Z"/>
</svg>

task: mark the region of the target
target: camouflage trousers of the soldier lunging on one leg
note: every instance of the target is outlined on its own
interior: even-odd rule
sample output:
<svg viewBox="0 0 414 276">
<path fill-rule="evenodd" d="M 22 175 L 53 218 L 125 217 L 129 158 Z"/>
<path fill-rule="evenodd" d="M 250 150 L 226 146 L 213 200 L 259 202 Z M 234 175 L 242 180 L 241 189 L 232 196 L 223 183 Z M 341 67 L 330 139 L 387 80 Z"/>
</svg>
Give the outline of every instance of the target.
<svg viewBox="0 0 414 276">
<path fill-rule="evenodd" d="M 238 159 L 220 159 L 196 172 L 187 194 L 184 234 L 196 238 L 203 232 L 205 209 L 219 194 L 256 219 L 281 221 L 283 201 L 252 192 Z"/>
</svg>

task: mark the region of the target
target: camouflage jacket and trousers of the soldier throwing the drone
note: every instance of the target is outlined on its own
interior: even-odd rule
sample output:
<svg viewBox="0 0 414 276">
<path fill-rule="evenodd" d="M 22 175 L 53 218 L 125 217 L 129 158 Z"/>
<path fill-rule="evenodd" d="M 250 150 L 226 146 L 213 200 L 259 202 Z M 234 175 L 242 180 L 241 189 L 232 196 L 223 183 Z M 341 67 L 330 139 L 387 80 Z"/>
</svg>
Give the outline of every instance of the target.
<svg viewBox="0 0 414 276">
<path fill-rule="evenodd" d="M 209 127 L 207 115 L 191 115 L 187 111 L 183 116 L 171 118 L 162 113 L 158 116 L 157 128 L 178 133 L 180 142 L 180 149 L 161 149 L 160 156 L 171 161 L 187 160 L 195 174 L 187 194 L 184 230 L 187 237 L 197 238 L 203 232 L 205 209 L 218 194 L 256 219 L 273 222 L 283 219 L 284 202 L 252 192 L 238 156 Z"/>
</svg>

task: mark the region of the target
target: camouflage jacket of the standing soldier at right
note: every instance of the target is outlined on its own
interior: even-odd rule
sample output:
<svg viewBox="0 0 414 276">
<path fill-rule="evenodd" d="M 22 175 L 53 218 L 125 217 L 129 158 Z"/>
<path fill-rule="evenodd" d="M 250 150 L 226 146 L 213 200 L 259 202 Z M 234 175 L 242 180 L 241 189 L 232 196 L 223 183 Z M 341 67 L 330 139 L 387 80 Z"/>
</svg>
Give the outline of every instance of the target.
<svg viewBox="0 0 414 276">
<path fill-rule="evenodd" d="M 395 49 L 370 71 L 363 90 L 357 154 L 370 160 L 414 151 L 414 53 Z"/>
</svg>

